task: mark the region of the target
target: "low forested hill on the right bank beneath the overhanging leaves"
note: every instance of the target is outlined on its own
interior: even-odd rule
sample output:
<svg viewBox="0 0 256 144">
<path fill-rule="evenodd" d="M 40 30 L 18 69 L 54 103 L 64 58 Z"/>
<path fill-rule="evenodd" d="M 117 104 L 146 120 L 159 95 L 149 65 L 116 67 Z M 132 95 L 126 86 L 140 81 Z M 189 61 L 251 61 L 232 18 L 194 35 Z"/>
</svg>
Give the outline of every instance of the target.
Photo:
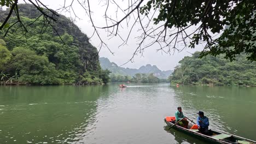
<svg viewBox="0 0 256 144">
<path fill-rule="evenodd" d="M 199 54 L 195 53 L 179 61 L 170 77 L 171 82 L 256 86 L 256 62 L 246 61 L 246 55 L 237 56 L 233 62 L 226 60 L 223 55 L 198 57 Z"/>
</svg>

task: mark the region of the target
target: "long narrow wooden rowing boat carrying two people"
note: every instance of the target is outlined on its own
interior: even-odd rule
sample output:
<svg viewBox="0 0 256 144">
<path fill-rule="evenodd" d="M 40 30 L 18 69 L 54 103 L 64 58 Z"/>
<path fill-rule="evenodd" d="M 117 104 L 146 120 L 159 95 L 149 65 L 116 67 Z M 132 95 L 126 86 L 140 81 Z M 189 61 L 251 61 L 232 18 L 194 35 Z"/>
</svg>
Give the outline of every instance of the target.
<svg viewBox="0 0 256 144">
<path fill-rule="evenodd" d="M 164 119 L 165 123 L 168 126 L 174 125 L 172 122 L 166 121 L 166 118 Z M 210 136 L 208 135 L 203 135 L 199 133 L 198 129 L 190 129 L 193 124 L 189 123 L 188 129 L 183 128 L 179 125 L 174 125 L 173 128 L 179 131 L 182 131 L 186 134 L 189 134 L 191 136 L 196 137 L 197 139 L 202 139 L 205 140 L 209 143 L 226 143 L 226 144 L 256 144 L 256 141 L 245 139 L 240 136 L 232 135 L 225 133 L 223 131 L 218 131 L 218 130 L 209 130 L 210 131 Z"/>
</svg>

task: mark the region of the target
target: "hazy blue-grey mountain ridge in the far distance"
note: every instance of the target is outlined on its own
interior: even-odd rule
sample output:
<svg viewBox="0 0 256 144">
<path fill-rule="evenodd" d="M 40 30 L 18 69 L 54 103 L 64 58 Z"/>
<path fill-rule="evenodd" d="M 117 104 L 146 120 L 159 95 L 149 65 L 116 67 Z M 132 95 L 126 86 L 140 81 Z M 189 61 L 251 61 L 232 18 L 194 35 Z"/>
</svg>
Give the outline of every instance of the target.
<svg viewBox="0 0 256 144">
<path fill-rule="evenodd" d="M 155 76 L 161 79 L 167 79 L 167 77 L 170 76 L 173 72 L 173 70 L 162 71 L 156 65 L 151 65 L 151 64 L 143 65 L 139 69 L 131 69 L 131 68 L 119 67 L 116 63 L 110 62 L 109 59 L 106 57 L 100 57 L 99 60 L 100 60 L 102 69 L 108 69 L 113 74 L 119 74 L 119 75 L 133 76 L 138 73 L 140 74 L 153 73 Z"/>
</svg>

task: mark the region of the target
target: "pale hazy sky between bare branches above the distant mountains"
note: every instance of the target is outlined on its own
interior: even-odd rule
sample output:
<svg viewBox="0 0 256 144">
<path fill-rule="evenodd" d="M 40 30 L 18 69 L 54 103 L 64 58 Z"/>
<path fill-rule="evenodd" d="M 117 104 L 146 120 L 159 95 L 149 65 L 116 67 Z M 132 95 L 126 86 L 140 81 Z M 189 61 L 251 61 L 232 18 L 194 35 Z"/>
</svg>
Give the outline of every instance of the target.
<svg viewBox="0 0 256 144">
<path fill-rule="evenodd" d="M 63 6 L 64 0 L 63 1 L 41 0 L 41 2 L 43 2 L 45 5 L 48 5 L 49 8 L 56 10 Z M 66 5 L 70 3 L 71 1 L 66 1 Z M 94 17 L 95 25 L 106 26 L 106 22 L 103 17 L 106 7 L 104 7 L 103 3 L 100 3 L 98 0 L 91 0 L 90 6 L 93 12 L 92 17 Z M 127 4 L 125 3 L 119 6 L 124 9 L 127 8 Z M 83 10 L 83 8 L 76 1 L 74 1 L 73 3 L 73 10 L 75 11 L 75 14 L 80 18 L 80 19 L 75 19 L 75 23 L 85 34 L 88 35 L 88 37 L 90 37 L 94 32 L 94 28 L 92 27 L 92 24 L 90 23 L 88 16 L 86 16 L 85 10 Z M 112 16 L 115 16 L 115 10 L 116 9 L 110 7 L 109 14 Z M 120 14 L 121 11 L 119 10 L 118 13 Z M 63 13 L 63 12 L 61 14 L 67 17 L 72 17 L 72 19 L 74 19 L 73 14 L 70 15 L 69 13 Z M 120 14 L 120 17 L 121 17 L 121 14 Z M 129 34 L 129 29 L 127 28 L 127 26 L 124 26 L 124 25 L 122 26 L 123 28 L 119 29 L 119 33 L 123 37 L 125 36 L 127 37 L 127 34 Z M 109 58 L 110 61 L 115 62 L 118 65 L 124 64 L 125 62 L 129 61 L 129 59 L 133 55 L 133 52 L 135 51 L 135 48 L 137 47 L 138 41 L 135 37 L 141 34 L 141 32 L 137 32 L 138 28 L 139 28 L 138 25 L 135 26 L 135 28 L 133 29 L 133 32 L 131 33 L 129 42 L 127 43 L 126 46 L 121 46 L 121 47 L 118 47 L 122 43 L 120 38 L 114 37 L 109 39 L 109 37 L 107 37 L 107 32 L 104 31 L 103 29 L 100 30 L 99 33 L 102 39 L 104 40 L 104 42 L 106 42 L 108 47 L 114 52 L 114 55 L 112 55 L 112 53 L 110 53 L 107 50 L 107 48 L 103 48 L 100 51 L 100 57 L 107 57 Z M 92 43 L 92 45 L 97 47 L 97 49 L 99 49 L 100 40 L 98 39 L 98 37 L 96 37 L 96 35 L 90 39 L 90 42 Z M 187 48 L 187 49 L 184 49 L 182 52 L 176 51 L 172 55 L 167 55 L 166 53 L 162 53 L 161 51 L 156 52 L 156 49 L 159 49 L 159 48 L 160 48 L 159 45 L 153 45 L 152 47 L 148 47 L 143 52 L 143 56 L 141 55 L 135 56 L 133 63 L 129 62 L 123 65 L 122 67 L 139 68 L 142 65 L 152 64 L 152 65 L 156 65 L 161 70 L 170 70 L 176 67 L 178 62 L 184 56 L 191 56 L 190 53 L 193 53 L 196 50 L 197 51 L 200 50 L 200 48 L 199 49 Z"/>
</svg>

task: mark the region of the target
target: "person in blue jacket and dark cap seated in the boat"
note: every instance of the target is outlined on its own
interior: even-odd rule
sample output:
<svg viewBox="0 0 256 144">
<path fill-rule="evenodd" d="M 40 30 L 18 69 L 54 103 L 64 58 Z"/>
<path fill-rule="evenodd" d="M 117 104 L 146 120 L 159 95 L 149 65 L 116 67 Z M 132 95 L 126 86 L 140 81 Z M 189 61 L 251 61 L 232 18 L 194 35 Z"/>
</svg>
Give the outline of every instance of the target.
<svg viewBox="0 0 256 144">
<path fill-rule="evenodd" d="M 196 122 L 198 130 L 200 131 L 201 134 L 208 135 L 209 119 L 203 114 L 202 111 L 197 112 L 197 114 L 199 115 L 197 117 L 197 122 Z"/>
</svg>

